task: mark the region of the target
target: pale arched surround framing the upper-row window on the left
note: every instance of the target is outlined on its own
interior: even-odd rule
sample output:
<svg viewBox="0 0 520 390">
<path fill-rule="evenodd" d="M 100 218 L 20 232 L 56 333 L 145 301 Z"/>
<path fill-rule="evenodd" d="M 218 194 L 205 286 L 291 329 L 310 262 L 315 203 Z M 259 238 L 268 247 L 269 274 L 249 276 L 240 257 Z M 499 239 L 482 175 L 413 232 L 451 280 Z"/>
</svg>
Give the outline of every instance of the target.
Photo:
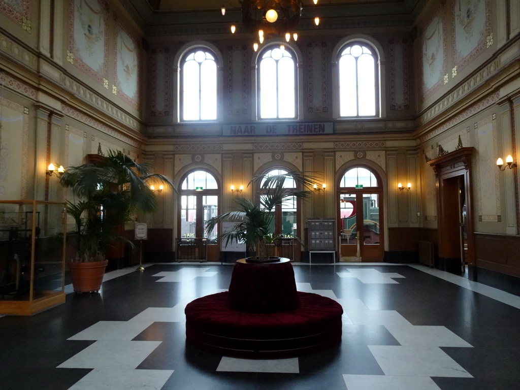
<svg viewBox="0 0 520 390">
<path fill-rule="evenodd" d="M 213 55 L 215 59 L 215 63 L 217 66 L 217 80 L 216 80 L 216 119 L 212 120 L 188 120 L 185 121 L 183 119 L 183 106 L 184 106 L 184 98 L 183 98 L 183 64 L 187 56 L 189 56 L 191 53 L 194 53 L 198 50 L 207 51 L 211 55 Z M 174 113 L 173 118 L 177 122 L 187 122 L 187 123 L 194 123 L 194 122 L 203 122 L 203 123 L 211 123 L 211 122 L 219 122 L 222 120 L 223 115 L 223 107 L 222 107 L 222 97 L 223 95 L 223 63 L 224 58 L 222 57 L 222 54 L 218 50 L 218 48 L 205 41 L 193 41 L 190 42 L 183 47 L 181 47 L 174 58 L 175 68 L 174 68 L 174 85 L 173 90 L 175 91 L 175 96 L 177 96 L 177 102 L 174 105 Z"/>
</svg>

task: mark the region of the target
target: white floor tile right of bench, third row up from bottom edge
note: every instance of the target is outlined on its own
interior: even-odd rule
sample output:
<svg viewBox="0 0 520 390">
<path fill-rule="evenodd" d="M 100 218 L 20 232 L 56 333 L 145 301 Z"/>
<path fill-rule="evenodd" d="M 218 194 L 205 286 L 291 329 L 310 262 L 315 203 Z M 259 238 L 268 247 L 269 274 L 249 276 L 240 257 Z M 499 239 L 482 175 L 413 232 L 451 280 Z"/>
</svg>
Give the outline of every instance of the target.
<svg viewBox="0 0 520 390">
<path fill-rule="evenodd" d="M 401 345 L 431 346 L 431 347 L 472 347 L 461 337 L 441 326 L 393 326 L 386 329 Z"/>
</svg>

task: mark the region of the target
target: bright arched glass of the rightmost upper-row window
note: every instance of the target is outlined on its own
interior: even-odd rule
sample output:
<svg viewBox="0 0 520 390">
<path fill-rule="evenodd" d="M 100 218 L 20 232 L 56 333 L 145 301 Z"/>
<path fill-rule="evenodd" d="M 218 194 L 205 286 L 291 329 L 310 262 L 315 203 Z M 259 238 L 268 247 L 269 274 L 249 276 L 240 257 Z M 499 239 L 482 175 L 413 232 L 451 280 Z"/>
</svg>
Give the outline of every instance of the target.
<svg viewBox="0 0 520 390">
<path fill-rule="evenodd" d="M 378 115 L 378 59 L 363 42 L 351 42 L 339 51 L 340 116 Z"/>
</svg>

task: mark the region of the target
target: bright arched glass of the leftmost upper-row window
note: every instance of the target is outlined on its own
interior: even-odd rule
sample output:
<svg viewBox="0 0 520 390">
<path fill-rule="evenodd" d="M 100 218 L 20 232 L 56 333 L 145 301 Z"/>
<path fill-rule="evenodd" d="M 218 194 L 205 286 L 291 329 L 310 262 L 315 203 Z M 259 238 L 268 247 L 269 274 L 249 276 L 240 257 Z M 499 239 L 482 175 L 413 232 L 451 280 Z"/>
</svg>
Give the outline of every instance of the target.
<svg viewBox="0 0 520 390">
<path fill-rule="evenodd" d="M 181 92 L 184 121 L 217 119 L 217 63 L 208 49 L 190 50 L 181 60 Z"/>
</svg>

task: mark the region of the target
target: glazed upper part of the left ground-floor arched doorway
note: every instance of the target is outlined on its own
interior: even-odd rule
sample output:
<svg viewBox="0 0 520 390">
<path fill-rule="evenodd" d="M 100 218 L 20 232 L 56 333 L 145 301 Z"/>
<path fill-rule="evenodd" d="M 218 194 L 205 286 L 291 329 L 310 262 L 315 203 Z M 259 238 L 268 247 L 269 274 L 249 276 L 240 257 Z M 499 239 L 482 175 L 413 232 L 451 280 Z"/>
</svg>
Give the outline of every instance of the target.
<svg viewBox="0 0 520 390">
<path fill-rule="evenodd" d="M 215 241 L 217 231 L 206 232 L 206 221 L 218 215 L 218 184 L 215 177 L 206 171 L 188 173 L 180 185 L 180 238 L 208 238 Z"/>
</svg>

